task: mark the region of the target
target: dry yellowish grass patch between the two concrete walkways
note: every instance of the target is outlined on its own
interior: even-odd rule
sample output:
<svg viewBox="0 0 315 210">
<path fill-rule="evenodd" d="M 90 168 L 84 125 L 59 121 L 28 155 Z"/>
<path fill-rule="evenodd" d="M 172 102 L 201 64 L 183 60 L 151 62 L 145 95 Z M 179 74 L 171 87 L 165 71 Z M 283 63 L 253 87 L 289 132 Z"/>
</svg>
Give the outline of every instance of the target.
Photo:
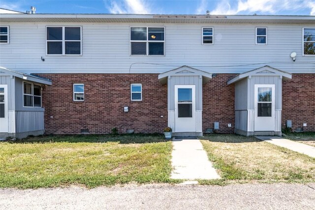
<svg viewBox="0 0 315 210">
<path fill-rule="evenodd" d="M 254 137 L 211 134 L 201 143 L 222 178 L 202 184 L 315 181 L 315 158 Z"/>
</svg>

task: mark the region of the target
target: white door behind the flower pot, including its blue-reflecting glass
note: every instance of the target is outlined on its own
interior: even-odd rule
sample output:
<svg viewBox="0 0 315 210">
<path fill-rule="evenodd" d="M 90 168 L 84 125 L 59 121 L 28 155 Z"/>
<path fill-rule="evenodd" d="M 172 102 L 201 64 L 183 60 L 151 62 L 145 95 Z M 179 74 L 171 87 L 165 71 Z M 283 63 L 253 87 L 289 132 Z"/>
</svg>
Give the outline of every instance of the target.
<svg viewBox="0 0 315 210">
<path fill-rule="evenodd" d="M 195 132 L 195 86 L 175 85 L 175 132 Z"/>
</svg>

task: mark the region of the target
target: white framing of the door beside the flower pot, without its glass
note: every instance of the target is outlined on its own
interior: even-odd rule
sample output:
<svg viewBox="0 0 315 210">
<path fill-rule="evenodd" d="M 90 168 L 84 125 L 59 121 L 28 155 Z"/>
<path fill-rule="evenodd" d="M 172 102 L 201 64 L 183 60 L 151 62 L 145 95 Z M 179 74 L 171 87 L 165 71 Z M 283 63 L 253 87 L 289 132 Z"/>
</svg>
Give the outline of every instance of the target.
<svg viewBox="0 0 315 210">
<path fill-rule="evenodd" d="M 188 88 L 191 89 L 191 102 L 192 102 L 192 112 L 191 118 L 179 118 L 178 117 L 178 89 Z M 175 95 L 175 126 L 174 132 L 195 132 L 196 131 L 196 88 L 195 85 L 175 85 L 174 86 Z"/>
</svg>

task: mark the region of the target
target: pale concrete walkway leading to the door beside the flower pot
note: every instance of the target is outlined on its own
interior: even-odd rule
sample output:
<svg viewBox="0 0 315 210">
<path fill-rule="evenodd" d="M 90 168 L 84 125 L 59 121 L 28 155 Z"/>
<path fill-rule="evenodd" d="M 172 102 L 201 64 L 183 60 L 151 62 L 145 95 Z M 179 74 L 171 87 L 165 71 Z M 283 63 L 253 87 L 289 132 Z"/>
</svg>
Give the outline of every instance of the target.
<svg viewBox="0 0 315 210">
<path fill-rule="evenodd" d="M 171 179 L 220 179 L 198 139 L 173 140 Z"/>
</svg>

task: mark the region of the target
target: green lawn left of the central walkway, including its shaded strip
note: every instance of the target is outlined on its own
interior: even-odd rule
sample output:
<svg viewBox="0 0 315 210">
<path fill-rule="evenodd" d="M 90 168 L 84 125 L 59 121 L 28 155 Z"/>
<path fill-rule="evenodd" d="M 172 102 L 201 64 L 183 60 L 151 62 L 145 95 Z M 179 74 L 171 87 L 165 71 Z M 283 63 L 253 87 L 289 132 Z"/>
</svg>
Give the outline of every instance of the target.
<svg viewBox="0 0 315 210">
<path fill-rule="evenodd" d="M 174 182 L 162 135 L 43 136 L 0 143 L 0 187 Z"/>
</svg>

